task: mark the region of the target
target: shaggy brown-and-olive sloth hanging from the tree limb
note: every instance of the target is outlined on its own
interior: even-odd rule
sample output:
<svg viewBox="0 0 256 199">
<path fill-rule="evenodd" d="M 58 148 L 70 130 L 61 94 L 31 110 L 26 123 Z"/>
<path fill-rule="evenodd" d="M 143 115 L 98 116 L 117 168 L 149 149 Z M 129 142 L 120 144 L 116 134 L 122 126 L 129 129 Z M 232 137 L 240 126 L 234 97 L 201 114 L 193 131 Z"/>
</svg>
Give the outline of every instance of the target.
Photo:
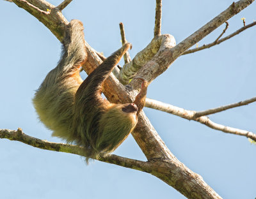
<svg viewBox="0 0 256 199">
<path fill-rule="evenodd" d="M 63 40 L 63 55 L 36 91 L 33 103 L 40 120 L 53 136 L 75 142 L 88 158 L 112 152 L 131 133 L 145 105 L 147 81 L 134 103 L 115 104 L 102 99 L 102 83 L 131 47 L 126 43 L 83 81 L 79 75 L 86 61 L 83 24 L 72 20 Z"/>
</svg>

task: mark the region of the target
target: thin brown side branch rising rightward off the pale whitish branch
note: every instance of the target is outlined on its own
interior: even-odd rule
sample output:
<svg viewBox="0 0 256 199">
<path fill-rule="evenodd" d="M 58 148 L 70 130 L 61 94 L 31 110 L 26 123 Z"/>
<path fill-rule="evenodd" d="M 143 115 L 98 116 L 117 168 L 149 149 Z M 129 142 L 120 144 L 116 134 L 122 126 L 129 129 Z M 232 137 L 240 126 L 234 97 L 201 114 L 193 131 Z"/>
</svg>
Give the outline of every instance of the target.
<svg viewBox="0 0 256 199">
<path fill-rule="evenodd" d="M 230 108 L 241 107 L 241 106 L 244 106 L 244 105 L 248 105 L 250 103 L 253 103 L 254 101 L 256 101 L 256 97 L 251 98 L 251 99 L 246 99 L 244 101 L 239 101 L 237 103 L 232 103 L 230 105 L 221 106 L 221 107 L 218 107 L 218 108 L 211 108 L 209 110 L 199 111 L 199 112 L 195 113 L 195 117 L 201 117 L 203 115 L 216 114 L 218 112 L 221 112 L 223 110 L 227 110 L 227 109 L 230 109 Z"/>
</svg>

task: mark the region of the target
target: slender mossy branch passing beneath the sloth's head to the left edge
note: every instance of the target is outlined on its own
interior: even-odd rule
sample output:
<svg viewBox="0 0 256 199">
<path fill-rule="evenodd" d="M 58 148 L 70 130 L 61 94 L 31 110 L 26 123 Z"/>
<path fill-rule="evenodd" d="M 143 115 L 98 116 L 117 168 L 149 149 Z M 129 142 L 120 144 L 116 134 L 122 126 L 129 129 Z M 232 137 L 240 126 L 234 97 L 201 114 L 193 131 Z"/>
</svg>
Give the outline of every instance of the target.
<svg viewBox="0 0 256 199">
<path fill-rule="evenodd" d="M 0 129 L 0 138 L 6 138 L 8 140 L 23 142 L 24 144 L 28 144 L 31 145 L 32 147 L 36 147 L 39 149 L 57 152 L 67 152 L 86 157 L 84 152 L 86 149 L 84 149 L 83 147 L 79 147 L 77 145 L 49 142 L 47 140 L 40 140 L 33 136 L 26 135 L 20 128 L 17 129 L 17 131 L 10 129 Z M 97 158 L 97 160 L 106 163 L 111 163 L 114 165 L 124 166 L 126 168 L 132 168 L 143 172 L 148 172 L 148 163 L 145 161 L 124 158 L 113 154 L 102 154 L 99 158 Z"/>
</svg>

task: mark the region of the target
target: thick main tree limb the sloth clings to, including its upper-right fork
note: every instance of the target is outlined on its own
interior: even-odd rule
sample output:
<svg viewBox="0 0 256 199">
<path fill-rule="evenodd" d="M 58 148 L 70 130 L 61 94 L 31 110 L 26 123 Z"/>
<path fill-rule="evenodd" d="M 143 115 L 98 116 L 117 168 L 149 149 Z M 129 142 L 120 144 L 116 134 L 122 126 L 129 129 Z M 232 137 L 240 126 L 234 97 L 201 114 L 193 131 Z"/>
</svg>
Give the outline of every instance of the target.
<svg viewBox="0 0 256 199">
<path fill-rule="evenodd" d="M 28 10 L 29 13 L 44 23 L 60 41 L 63 40 L 63 33 L 68 22 L 61 12 L 57 11 L 58 9 L 56 9 L 56 11 L 52 10 L 51 4 L 43 0 L 33 1 L 33 4 L 35 3 L 34 5 L 40 9 L 45 10 L 44 8 L 47 9 L 47 6 L 49 6 L 48 9 L 51 10 L 51 15 L 38 15 L 38 13 L 35 13 L 35 9 L 20 4 L 20 1 L 13 0 L 13 2 L 19 6 L 23 6 L 22 8 Z M 32 0 L 28 0 L 28 2 L 31 3 Z M 157 52 L 159 59 L 154 56 L 147 64 L 145 64 L 148 68 L 141 68 L 138 72 L 138 76 L 145 77 L 148 82 L 151 82 L 154 78 L 163 73 L 163 71 L 165 71 L 185 50 L 204 38 L 207 34 L 211 33 L 216 27 L 223 24 L 228 18 L 234 16 L 252 2 L 253 0 L 241 0 L 236 4 L 232 4 L 230 8 L 223 11 L 218 17 L 214 18 L 211 22 L 202 27 L 202 29 L 189 36 L 189 38 L 179 43 L 176 47 L 159 50 Z M 58 26 L 56 26 L 56 24 L 58 24 Z M 87 73 L 90 73 L 90 71 L 99 66 L 99 63 L 102 61 L 87 43 L 86 50 L 88 59 L 83 68 Z M 164 57 L 167 57 L 167 59 Z M 147 70 L 145 70 L 145 68 L 147 68 Z M 118 83 L 118 80 L 116 80 L 113 75 L 111 75 L 104 83 L 105 96 L 109 101 L 114 103 L 131 102 L 138 92 L 137 90 L 140 88 L 139 82 L 136 82 L 136 80 L 132 81 L 130 87 L 124 87 L 122 84 Z M 150 162 L 156 161 L 157 163 L 157 166 L 152 166 L 152 172 L 150 173 L 156 175 L 170 186 L 173 186 L 173 188 L 177 189 L 188 198 L 220 198 L 220 196 L 204 182 L 202 177 L 191 172 L 189 168 L 184 166 L 177 160 L 177 158 L 175 158 L 175 156 L 173 156 L 143 112 L 140 114 L 139 122 L 136 129 L 134 129 L 132 136 L 134 136 L 134 139 L 147 159 Z"/>
</svg>

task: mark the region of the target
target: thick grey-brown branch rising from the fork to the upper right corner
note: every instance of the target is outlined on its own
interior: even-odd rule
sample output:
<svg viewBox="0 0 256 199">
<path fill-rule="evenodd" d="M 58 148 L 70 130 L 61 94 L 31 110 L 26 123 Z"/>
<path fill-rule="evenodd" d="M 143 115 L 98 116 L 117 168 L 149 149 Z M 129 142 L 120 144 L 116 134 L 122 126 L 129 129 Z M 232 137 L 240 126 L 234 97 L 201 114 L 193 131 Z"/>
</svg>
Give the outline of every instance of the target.
<svg viewBox="0 0 256 199">
<path fill-rule="evenodd" d="M 210 22 L 205 24 L 195 33 L 191 34 L 188 38 L 181 41 L 173 48 L 166 48 L 159 51 L 145 66 L 143 66 L 136 76 L 144 77 L 148 82 L 152 82 L 156 77 L 161 75 L 168 67 L 188 48 L 192 47 L 198 41 L 202 40 L 205 36 L 214 31 L 217 27 L 221 26 L 229 18 L 233 17 L 239 11 L 243 10 L 247 6 L 253 3 L 254 0 L 240 0 L 236 3 L 232 3 L 227 10 L 223 11 L 217 17 L 213 18 Z M 211 9 L 211 8 L 209 8 Z M 134 89 L 140 87 L 140 81 L 134 78 L 131 81 L 131 86 Z"/>
</svg>

